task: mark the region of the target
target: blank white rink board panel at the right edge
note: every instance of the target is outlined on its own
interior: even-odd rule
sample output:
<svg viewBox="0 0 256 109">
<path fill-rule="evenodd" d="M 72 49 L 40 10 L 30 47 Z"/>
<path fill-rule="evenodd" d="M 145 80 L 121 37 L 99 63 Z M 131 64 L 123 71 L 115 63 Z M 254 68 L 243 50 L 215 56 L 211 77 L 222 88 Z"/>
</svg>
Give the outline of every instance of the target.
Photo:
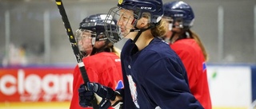
<svg viewBox="0 0 256 109">
<path fill-rule="evenodd" d="M 214 108 L 248 109 L 256 99 L 256 66 L 209 64 L 207 76 Z"/>
</svg>

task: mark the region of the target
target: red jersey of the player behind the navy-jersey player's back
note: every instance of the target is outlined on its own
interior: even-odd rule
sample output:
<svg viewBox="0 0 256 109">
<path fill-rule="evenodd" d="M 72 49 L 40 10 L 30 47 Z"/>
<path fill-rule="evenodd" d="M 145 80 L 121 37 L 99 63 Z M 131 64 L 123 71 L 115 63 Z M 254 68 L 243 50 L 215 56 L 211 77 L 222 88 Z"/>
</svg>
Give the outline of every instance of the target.
<svg viewBox="0 0 256 109">
<path fill-rule="evenodd" d="M 206 60 L 194 39 L 182 39 L 170 45 L 182 59 L 189 80 L 190 91 L 205 109 L 211 109 L 210 91 L 206 74 Z"/>
</svg>

